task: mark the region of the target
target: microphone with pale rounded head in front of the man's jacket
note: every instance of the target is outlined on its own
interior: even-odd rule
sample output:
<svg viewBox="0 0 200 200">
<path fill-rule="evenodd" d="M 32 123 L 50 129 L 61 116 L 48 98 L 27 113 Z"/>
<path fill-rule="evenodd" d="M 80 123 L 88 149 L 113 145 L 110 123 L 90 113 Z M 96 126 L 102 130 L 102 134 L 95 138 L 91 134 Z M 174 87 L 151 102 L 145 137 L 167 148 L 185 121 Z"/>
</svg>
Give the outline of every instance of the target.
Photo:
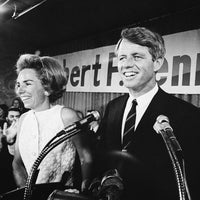
<svg viewBox="0 0 200 200">
<path fill-rule="evenodd" d="M 175 151 L 182 151 L 181 146 L 174 135 L 173 129 L 169 124 L 167 116 L 159 115 L 153 128 L 158 134 L 163 135 L 166 142 L 169 143 Z"/>
</svg>

